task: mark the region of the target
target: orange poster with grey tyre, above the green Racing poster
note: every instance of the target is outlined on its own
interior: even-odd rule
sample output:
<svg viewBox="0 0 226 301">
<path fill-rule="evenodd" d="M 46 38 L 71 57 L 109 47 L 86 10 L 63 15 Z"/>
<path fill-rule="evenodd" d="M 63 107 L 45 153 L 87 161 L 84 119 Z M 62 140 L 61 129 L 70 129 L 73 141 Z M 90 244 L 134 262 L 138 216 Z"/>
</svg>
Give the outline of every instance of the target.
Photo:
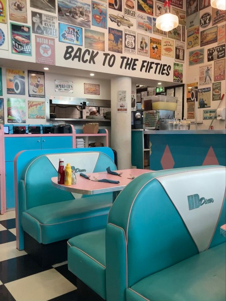
<svg viewBox="0 0 226 301">
<path fill-rule="evenodd" d="M 25 95 L 25 72 L 6 69 L 6 89 L 7 94 Z"/>
</svg>

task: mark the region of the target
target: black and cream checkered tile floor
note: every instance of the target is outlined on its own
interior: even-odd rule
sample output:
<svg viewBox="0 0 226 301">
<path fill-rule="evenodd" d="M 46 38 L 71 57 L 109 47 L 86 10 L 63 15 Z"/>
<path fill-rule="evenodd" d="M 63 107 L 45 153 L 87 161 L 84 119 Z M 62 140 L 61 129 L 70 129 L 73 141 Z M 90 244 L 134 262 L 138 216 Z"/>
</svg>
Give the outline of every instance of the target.
<svg viewBox="0 0 226 301">
<path fill-rule="evenodd" d="M 41 268 L 16 249 L 15 211 L 0 215 L 0 301 L 77 301 L 67 262 Z"/>
</svg>

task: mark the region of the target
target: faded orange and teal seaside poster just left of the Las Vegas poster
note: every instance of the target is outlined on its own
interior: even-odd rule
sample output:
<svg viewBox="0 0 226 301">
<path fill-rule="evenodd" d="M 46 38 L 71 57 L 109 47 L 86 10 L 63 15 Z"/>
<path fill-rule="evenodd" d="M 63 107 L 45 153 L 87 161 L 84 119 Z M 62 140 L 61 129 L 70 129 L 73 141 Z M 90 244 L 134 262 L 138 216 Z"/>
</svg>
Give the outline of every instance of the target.
<svg viewBox="0 0 226 301">
<path fill-rule="evenodd" d="M 96 30 L 85 29 L 84 41 L 85 41 L 85 48 L 99 50 L 99 51 L 105 50 L 104 33 L 101 33 Z"/>
</svg>

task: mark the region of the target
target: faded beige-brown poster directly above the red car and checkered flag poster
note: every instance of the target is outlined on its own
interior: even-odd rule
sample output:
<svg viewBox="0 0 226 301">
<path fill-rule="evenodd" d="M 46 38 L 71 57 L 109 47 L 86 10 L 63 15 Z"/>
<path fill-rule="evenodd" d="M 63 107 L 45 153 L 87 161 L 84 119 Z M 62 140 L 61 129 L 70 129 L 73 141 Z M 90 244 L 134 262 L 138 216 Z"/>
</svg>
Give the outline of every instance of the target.
<svg viewBox="0 0 226 301">
<path fill-rule="evenodd" d="M 27 3 L 26 0 L 8 0 L 9 15 L 11 21 L 27 23 Z"/>
</svg>

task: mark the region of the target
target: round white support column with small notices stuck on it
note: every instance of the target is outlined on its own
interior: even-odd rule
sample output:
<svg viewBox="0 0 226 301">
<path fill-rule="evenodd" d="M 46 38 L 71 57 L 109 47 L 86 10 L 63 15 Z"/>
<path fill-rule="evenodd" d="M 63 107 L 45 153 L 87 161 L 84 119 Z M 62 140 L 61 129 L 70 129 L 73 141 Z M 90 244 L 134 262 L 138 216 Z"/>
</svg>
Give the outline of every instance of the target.
<svg viewBox="0 0 226 301">
<path fill-rule="evenodd" d="M 126 91 L 127 113 L 118 113 L 119 91 Z M 131 168 L 131 78 L 111 79 L 111 148 L 118 154 L 118 169 Z"/>
</svg>

